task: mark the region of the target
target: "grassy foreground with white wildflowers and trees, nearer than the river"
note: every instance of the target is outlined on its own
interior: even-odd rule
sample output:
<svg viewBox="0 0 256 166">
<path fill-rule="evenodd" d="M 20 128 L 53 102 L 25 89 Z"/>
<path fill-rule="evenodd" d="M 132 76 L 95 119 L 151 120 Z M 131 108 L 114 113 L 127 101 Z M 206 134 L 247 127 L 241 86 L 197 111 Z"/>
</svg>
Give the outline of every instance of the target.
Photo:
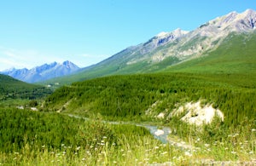
<svg viewBox="0 0 256 166">
<path fill-rule="evenodd" d="M 218 126 L 218 122 L 212 123 L 212 126 L 206 126 L 201 131 L 193 131 L 195 127 L 189 126 L 188 137 L 179 138 L 177 135 L 175 140 L 176 143 L 190 145 L 189 148 L 184 148 L 171 143 L 162 144 L 159 140 L 155 140 L 147 129 L 132 124 L 103 123 L 100 118 L 84 121 L 55 113 L 22 110 L 1 110 L 1 112 L 5 115 L 1 119 L 14 115 L 17 119 L 22 115 L 19 121 L 10 121 L 11 125 L 4 126 L 5 123 L 1 121 L 2 134 L 3 128 L 10 129 L 12 126 L 14 129 L 14 126 L 20 122 L 22 125 L 28 123 L 34 126 L 33 123 L 43 121 L 44 125 L 48 126 L 52 123 L 51 120 L 55 119 L 61 120 L 60 124 L 63 127 L 56 123 L 56 129 L 59 130 L 54 129 L 55 133 L 51 132 L 51 128 L 48 128 L 48 131 L 42 130 L 43 133 L 40 135 L 44 135 L 38 137 L 39 140 L 32 140 L 29 136 L 29 133 L 35 135 L 37 130 L 18 128 L 16 134 L 23 135 L 26 140 L 14 142 L 20 145 L 16 146 L 19 148 L 6 151 L 6 148 L 2 147 L 0 149 L 1 165 L 149 165 L 154 163 L 200 165 L 225 160 L 253 163 L 256 157 L 256 129 L 253 129 L 255 122 L 247 119 L 236 129 L 224 135 L 227 137 L 221 140 L 218 135 L 212 137 L 207 135 L 209 131 L 218 132 L 216 130 L 218 128 L 214 128 Z M 32 121 L 22 121 L 22 119 Z M 70 129 L 67 126 L 72 127 L 75 132 L 69 132 Z M 38 129 L 40 129 L 39 126 Z M 65 137 L 58 135 L 58 132 L 65 134 Z M 55 137 L 52 140 L 61 140 L 59 145 L 53 146 L 46 139 L 53 135 Z M 1 140 L 3 136 L 0 135 Z M 13 138 L 16 137 L 13 135 Z M 70 137 L 73 137 L 73 140 L 70 140 Z"/>
</svg>

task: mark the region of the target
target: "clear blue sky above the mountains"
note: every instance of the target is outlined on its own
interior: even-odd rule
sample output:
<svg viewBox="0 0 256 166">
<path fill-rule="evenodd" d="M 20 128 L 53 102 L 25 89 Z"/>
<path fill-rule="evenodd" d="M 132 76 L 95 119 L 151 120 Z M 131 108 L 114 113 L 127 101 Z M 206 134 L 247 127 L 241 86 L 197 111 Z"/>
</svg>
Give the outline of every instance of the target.
<svg viewBox="0 0 256 166">
<path fill-rule="evenodd" d="M 0 3 L 0 71 L 71 60 L 90 66 L 161 31 L 256 9 L 254 0 L 8 0 Z"/>
</svg>

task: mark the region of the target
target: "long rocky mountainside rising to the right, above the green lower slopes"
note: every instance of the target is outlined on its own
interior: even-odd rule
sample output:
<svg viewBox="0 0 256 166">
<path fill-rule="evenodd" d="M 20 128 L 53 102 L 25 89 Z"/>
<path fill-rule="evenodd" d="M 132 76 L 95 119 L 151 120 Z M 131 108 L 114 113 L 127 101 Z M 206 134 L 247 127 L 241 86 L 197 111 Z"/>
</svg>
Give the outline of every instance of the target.
<svg viewBox="0 0 256 166">
<path fill-rule="evenodd" d="M 146 43 L 129 47 L 94 66 L 85 67 L 82 72 L 50 82 L 72 83 L 108 75 L 159 72 L 177 63 L 211 55 L 209 53 L 227 42 L 225 38 L 230 34 L 250 36 L 255 32 L 255 22 L 256 12 L 247 9 L 241 14 L 231 12 L 210 20 L 195 31 L 177 29 L 161 32 Z M 230 42 L 233 44 L 232 40 Z"/>
</svg>

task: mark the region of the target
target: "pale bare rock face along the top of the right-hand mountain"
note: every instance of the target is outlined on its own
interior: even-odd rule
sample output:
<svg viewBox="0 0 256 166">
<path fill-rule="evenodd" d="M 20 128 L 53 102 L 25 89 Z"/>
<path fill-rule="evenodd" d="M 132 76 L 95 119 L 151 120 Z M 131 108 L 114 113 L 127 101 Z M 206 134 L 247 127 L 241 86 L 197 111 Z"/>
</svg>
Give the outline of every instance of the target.
<svg viewBox="0 0 256 166">
<path fill-rule="evenodd" d="M 256 12 L 247 9 L 238 14 L 231 12 L 224 16 L 210 20 L 199 26 L 195 31 L 186 31 L 174 40 L 170 40 L 163 45 L 173 43 L 171 47 L 160 49 L 152 55 L 152 60 L 159 62 L 167 57 L 174 56 L 179 60 L 185 60 L 193 56 L 199 56 L 208 50 L 212 50 L 222 42 L 231 32 L 242 33 L 252 32 L 256 29 Z M 181 30 L 180 30 L 181 31 Z M 167 34 L 175 33 L 176 31 Z M 168 35 L 161 40 L 165 41 Z M 155 48 L 157 49 L 157 48 Z"/>
</svg>

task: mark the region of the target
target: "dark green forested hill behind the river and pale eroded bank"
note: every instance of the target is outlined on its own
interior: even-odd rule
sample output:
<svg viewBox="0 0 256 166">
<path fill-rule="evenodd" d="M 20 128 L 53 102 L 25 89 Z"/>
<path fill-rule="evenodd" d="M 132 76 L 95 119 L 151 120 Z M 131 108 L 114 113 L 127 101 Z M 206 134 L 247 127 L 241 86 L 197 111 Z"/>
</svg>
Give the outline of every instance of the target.
<svg viewBox="0 0 256 166">
<path fill-rule="evenodd" d="M 160 104 L 154 115 L 172 112 L 178 103 L 206 100 L 224 112 L 225 123 L 236 125 L 244 117 L 256 117 L 256 82 L 247 79 L 240 84 L 236 79 L 187 73 L 102 77 L 57 89 L 45 106 L 87 117 L 99 113 L 112 120 L 142 121 L 152 117 L 146 111 L 156 102 Z"/>
</svg>

